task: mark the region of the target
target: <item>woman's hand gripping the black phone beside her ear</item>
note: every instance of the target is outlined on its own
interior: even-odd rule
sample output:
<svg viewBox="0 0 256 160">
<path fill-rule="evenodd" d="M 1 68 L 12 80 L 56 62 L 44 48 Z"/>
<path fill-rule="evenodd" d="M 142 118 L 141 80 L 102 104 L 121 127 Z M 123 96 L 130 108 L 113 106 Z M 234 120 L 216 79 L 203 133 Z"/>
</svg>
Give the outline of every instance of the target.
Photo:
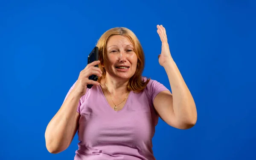
<svg viewBox="0 0 256 160">
<path fill-rule="evenodd" d="M 98 77 L 102 76 L 102 71 L 99 67 L 94 67 L 98 65 L 100 61 L 93 61 L 90 64 L 81 70 L 78 80 L 76 81 L 76 85 L 73 88 L 73 92 L 78 94 L 79 96 L 84 96 L 87 90 L 87 84 L 100 85 L 99 82 L 88 79 L 91 75 L 96 75 Z"/>
</svg>

